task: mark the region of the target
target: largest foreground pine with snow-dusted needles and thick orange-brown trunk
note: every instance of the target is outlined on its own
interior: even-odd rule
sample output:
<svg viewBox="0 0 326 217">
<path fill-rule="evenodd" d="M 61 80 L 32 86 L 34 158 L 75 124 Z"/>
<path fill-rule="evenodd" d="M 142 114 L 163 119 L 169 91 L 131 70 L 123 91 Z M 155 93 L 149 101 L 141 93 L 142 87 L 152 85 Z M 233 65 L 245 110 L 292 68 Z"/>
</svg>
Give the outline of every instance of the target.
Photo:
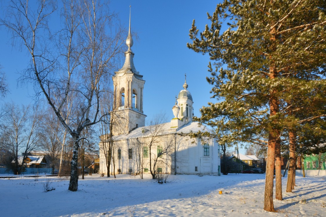
<svg viewBox="0 0 326 217">
<path fill-rule="evenodd" d="M 233 140 L 268 145 L 266 211 L 274 211 L 275 148 L 289 118 L 285 102 L 293 97 L 287 91 L 294 92 L 294 83 L 325 85 L 325 8 L 323 0 L 224 0 L 208 14 L 210 27 L 199 33 L 194 20 L 190 29 L 187 46 L 213 61 L 207 80 L 218 100 L 200 110 L 200 122 L 217 130 L 227 124 Z"/>
</svg>

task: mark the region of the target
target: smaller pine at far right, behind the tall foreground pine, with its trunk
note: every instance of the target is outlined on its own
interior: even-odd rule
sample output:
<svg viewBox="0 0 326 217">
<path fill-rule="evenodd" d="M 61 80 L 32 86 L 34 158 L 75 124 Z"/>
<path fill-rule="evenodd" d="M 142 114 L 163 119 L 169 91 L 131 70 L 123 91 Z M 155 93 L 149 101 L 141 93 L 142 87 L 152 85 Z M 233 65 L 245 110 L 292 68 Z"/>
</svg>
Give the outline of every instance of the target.
<svg viewBox="0 0 326 217">
<path fill-rule="evenodd" d="M 286 91 L 286 103 L 283 103 L 281 112 L 285 115 L 284 128 L 289 134 L 289 173 L 287 192 L 292 192 L 295 185 L 296 154 L 303 154 L 303 150 L 298 150 L 298 140 L 305 146 L 305 154 L 309 154 L 315 145 L 323 143 L 326 139 L 324 119 L 326 113 L 326 86 L 325 81 L 319 78 L 301 78 L 296 75 L 289 79 L 291 85 Z M 298 88 L 300 87 L 300 88 Z M 313 138 L 314 137 L 314 138 Z M 309 138 L 304 140 L 304 138 Z M 314 141 L 313 143 L 309 141 Z"/>
</svg>

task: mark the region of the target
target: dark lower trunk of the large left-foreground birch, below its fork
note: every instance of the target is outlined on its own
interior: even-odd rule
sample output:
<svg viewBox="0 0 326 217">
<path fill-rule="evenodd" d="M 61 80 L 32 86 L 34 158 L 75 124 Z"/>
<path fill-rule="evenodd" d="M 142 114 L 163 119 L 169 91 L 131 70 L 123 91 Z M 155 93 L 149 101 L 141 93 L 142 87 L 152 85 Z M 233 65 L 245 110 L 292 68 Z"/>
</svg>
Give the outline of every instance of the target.
<svg viewBox="0 0 326 217">
<path fill-rule="evenodd" d="M 71 164 L 71 173 L 70 173 L 70 181 L 69 181 L 69 191 L 77 191 L 78 190 L 78 148 L 79 148 L 79 138 L 74 138 L 74 149 L 72 153 Z"/>
</svg>

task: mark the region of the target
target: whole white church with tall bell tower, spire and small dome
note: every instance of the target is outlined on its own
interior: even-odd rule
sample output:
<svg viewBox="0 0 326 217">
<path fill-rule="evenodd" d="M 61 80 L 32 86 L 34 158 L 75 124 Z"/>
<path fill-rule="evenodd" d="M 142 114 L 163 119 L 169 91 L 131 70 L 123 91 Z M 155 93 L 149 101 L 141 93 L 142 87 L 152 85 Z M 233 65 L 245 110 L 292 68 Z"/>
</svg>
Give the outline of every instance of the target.
<svg viewBox="0 0 326 217">
<path fill-rule="evenodd" d="M 220 175 L 220 146 L 216 138 L 189 135 L 199 131 L 209 132 L 209 129 L 192 121 L 193 99 L 186 80 L 172 107 L 174 118 L 170 122 L 161 123 L 158 116 L 151 125 L 145 126 L 145 80 L 136 71 L 133 62 L 130 18 L 126 44 L 128 50 L 125 52 L 125 63 L 112 77 L 114 117 L 111 115 L 111 119 L 115 119 L 112 125 L 112 158 L 105 156 L 108 153 L 104 147 L 109 144 L 110 136 L 102 135 L 99 173 L 107 174 L 106 161 L 110 159 L 110 174 L 114 170 L 115 174 L 162 172 Z"/>
</svg>

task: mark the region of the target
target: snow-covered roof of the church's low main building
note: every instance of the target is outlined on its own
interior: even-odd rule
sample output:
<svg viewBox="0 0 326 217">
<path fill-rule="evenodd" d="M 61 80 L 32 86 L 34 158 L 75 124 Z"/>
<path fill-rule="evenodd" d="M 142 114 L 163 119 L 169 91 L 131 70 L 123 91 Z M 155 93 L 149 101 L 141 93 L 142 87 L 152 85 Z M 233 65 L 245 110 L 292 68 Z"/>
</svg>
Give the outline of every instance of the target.
<svg viewBox="0 0 326 217">
<path fill-rule="evenodd" d="M 173 134 L 173 133 L 190 133 L 190 132 L 211 132 L 207 127 L 205 126 L 199 126 L 198 122 L 189 122 L 188 124 L 185 124 L 184 126 L 178 128 L 177 130 L 171 129 L 171 123 L 164 123 L 159 125 L 150 125 L 145 127 L 139 127 L 127 134 L 121 134 L 114 136 L 114 140 L 125 140 L 125 139 L 132 139 L 132 138 L 140 138 L 140 137 L 149 137 L 153 135 L 154 129 L 156 131 L 159 131 L 156 135 L 167 135 L 167 134 Z"/>
</svg>

